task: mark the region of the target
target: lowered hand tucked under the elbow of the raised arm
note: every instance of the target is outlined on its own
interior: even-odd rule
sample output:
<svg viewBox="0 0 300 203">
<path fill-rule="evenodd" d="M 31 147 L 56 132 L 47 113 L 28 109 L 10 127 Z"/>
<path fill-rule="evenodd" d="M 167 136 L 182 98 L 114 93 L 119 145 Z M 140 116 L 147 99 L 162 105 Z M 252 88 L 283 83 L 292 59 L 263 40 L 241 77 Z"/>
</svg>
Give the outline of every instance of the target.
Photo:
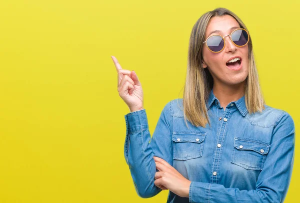
<svg viewBox="0 0 300 203">
<path fill-rule="evenodd" d="M 174 194 L 188 198 L 190 181 L 184 178 L 176 169 L 159 157 L 153 157 L 158 172 L 155 173 L 154 184 L 163 186 Z"/>
</svg>

